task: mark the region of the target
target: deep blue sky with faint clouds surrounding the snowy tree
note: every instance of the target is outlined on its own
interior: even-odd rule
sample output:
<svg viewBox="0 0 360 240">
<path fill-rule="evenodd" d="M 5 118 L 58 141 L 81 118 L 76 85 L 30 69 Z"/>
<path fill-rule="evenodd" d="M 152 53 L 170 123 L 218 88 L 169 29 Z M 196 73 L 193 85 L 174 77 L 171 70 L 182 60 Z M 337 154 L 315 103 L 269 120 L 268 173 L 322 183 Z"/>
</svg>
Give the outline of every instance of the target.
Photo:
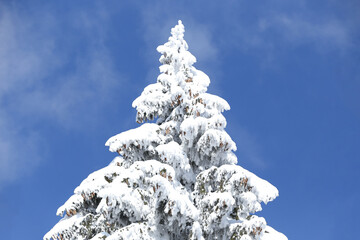
<svg viewBox="0 0 360 240">
<path fill-rule="evenodd" d="M 1 1 L 0 236 L 41 239 L 115 156 L 156 47 L 183 20 L 195 66 L 232 109 L 239 164 L 280 197 L 259 215 L 291 240 L 357 239 L 358 1 Z"/>
</svg>

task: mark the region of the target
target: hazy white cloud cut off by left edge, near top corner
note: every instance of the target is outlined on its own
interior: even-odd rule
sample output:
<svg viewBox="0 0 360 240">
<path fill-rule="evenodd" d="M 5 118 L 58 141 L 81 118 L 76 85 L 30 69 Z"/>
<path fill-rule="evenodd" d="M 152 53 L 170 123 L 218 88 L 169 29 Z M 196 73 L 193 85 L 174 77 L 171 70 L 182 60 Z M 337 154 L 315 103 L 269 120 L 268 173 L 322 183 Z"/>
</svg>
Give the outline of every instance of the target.
<svg viewBox="0 0 360 240">
<path fill-rule="evenodd" d="M 42 78 L 45 69 L 51 68 L 50 41 L 34 46 L 29 22 L 21 19 L 8 8 L 0 14 L 0 100 L 9 92 L 22 90 Z"/>
</svg>

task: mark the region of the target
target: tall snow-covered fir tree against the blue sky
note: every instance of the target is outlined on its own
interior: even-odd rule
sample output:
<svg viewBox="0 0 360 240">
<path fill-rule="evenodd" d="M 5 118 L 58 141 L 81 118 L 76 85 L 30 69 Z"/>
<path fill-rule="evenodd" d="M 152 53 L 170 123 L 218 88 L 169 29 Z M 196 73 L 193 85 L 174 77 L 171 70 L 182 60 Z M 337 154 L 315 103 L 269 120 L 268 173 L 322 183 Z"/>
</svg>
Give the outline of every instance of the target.
<svg viewBox="0 0 360 240">
<path fill-rule="evenodd" d="M 119 156 L 74 190 L 44 239 L 286 240 L 254 215 L 278 190 L 236 165 L 230 106 L 206 93 L 181 21 L 157 50 L 157 82 L 133 102 L 142 125 L 106 142 Z"/>
</svg>

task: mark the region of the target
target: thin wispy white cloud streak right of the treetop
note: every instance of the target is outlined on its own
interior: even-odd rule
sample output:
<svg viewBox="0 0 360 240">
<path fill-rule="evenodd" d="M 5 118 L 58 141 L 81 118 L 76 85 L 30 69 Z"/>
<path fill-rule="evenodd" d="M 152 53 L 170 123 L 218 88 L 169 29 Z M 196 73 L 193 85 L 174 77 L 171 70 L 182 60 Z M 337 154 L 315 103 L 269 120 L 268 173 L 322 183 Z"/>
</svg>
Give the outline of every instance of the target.
<svg viewBox="0 0 360 240">
<path fill-rule="evenodd" d="M 341 53 L 354 47 L 352 26 L 348 21 L 330 14 L 320 18 L 306 4 L 299 6 L 296 14 L 276 6 L 259 8 L 257 14 L 259 17 L 251 22 L 238 16 L 227 18 L 228 27 L 234 29 L 225 38 L 227 44 L 232 40 L 237 49 L 261 51 L 262 54 L 271 54 L 287 46 L 307 45 L 322 53 L 334 50 Z"/>
</svg>

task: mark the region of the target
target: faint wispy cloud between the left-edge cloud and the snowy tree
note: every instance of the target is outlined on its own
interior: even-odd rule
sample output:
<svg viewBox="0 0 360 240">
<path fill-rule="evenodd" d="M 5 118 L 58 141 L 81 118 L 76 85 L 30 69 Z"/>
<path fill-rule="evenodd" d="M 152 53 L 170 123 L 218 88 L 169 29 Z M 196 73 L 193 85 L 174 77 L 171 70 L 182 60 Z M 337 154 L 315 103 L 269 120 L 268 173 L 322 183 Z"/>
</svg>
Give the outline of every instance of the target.
<svg viewBox="0 0 360 240">
<path fill-rule="evenodd" d="M 96 115 L 120 83 L 111 64 L 105 52 L 90 51 L 77 61 L 73 72 L 61 76 L 53 86 L 39 82 L 35 89 L 24 91 L 9 106 L 23 115 L 37 114 L 66 128 L 89 124 L 86 116 Z"/>
</svg>

